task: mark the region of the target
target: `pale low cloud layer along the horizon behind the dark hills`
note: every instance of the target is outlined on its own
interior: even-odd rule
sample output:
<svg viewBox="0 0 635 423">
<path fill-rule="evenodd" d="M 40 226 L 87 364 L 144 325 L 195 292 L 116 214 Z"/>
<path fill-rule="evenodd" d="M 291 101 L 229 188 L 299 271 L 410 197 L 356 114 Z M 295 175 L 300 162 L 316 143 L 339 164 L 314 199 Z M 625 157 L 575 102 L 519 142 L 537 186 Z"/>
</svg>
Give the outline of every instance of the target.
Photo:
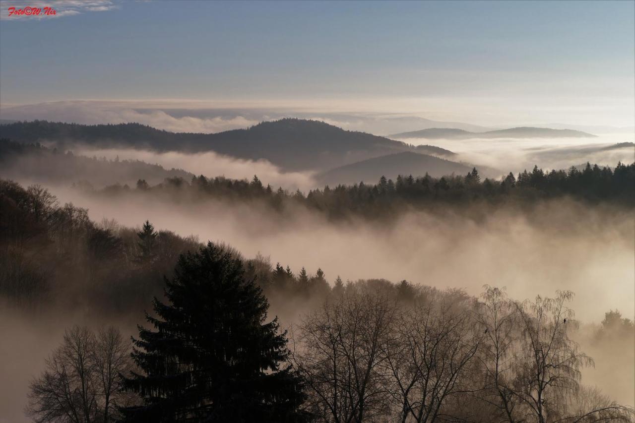
<svg viewBox="0 0 635 423">
<path fill-rule="evenodd" d="M 368 109 L 384 107 L 384 111 Z M 406 102 L 402 106 L 413 107 Z M 401 107 L 403 109 L 403 107 Z M 385 110 L 389 110 L 386 112 Z M 214 133 L 246 128 L 262 121 L 298 117 L 316 119 L 345 130 L 386 135 L 426 128 L 458 128 L 467 131 L 488 131 L 513 126 L 568 128 L 599 133 L 633 133 L 634 127 L 589 126 L 563 123 L 513 122 L 478 125 L 460 122 L 455 114 L 433 110 L 406 112 L 394 103 L 386 102 L 224 102 L 195 100 L 67 100 L 36 104 L 0 104 L 0 118 L 9 120 L 61 121 L 68 123 L 131 123 L 137 122 L 168 131 Z M 434 119 L 434 120 L 431 120 Z M 471 121 L 471 119 L 467 119 Z M 410 140 L 408 140 L 410 142 Z"/>
</svg>

